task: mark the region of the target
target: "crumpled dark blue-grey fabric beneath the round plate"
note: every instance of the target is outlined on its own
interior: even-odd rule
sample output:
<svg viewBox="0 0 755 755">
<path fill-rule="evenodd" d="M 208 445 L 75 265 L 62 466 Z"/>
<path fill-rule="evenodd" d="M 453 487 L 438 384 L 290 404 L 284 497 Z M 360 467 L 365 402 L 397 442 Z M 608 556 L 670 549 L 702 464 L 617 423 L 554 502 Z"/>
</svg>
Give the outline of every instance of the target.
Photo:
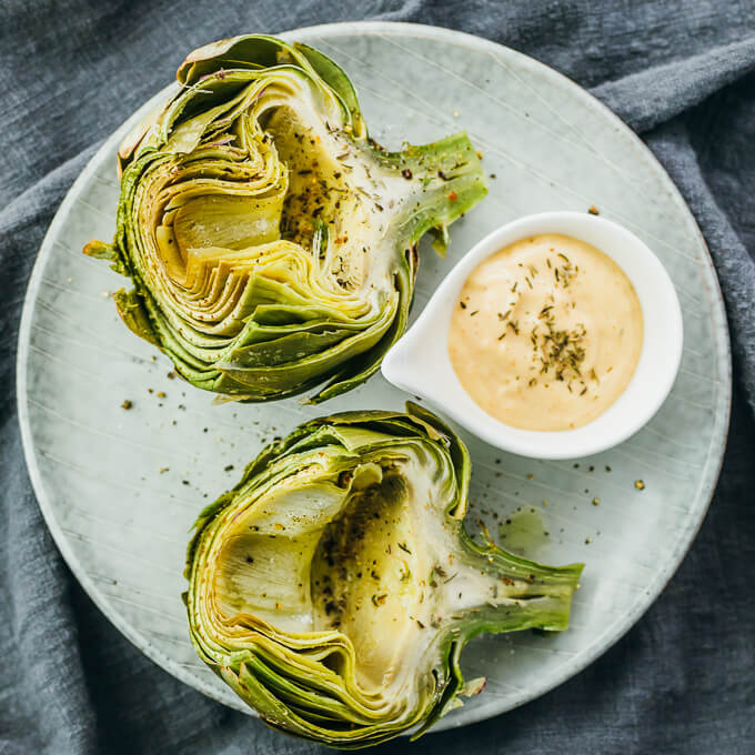
<svg viewBox="0 0 755 755">
<path fill-rule="evenodd" d="M 721 482 L 640 623 L 544 697 L 385 752 L 755 752 L 755 2 L 4 0 L 0 4 L 0 753 L 293 754 L 173 680 L 83 594 L 44 526 L 16 416 L 21 304 L 42 235 L 99 141 L 184 53 L 245 31 L 392 19 L 461 29 L 548 63 L 637 130 L 697 218 L 726 299 L 735 399 Z"/>
</svg>

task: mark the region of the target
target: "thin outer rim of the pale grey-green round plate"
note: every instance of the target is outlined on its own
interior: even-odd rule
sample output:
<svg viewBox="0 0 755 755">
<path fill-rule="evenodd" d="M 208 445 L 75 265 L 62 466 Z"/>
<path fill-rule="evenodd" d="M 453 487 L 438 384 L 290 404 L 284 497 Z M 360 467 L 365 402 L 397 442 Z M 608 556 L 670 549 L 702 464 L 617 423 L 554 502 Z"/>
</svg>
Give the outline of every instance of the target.
<svg viewBox="0 0 755 755">
<path fill-rule="evenodd" d="M 575 97 L 582 98 L 585 104 L 600 112 L 604 118 L 607 117 L 608 120 L 613 122 L 617 130 L 621 130 L 624 135 L 628 135 L 634 149 L 640 150 L 644 153 L 644 157 L 650 161 L 658 172 L 663 180 L 664 189 L 670 192 L 671 198 L 682 212 L 686 212 L 692 224 L 694 226 L 697 240 L 702 243 L 703 250 L 705 252 L 705 262 L 707 263 L 711 272 L 713 273 L 713 285 L 711 291 L 711 302 L 713 306 L 718 306 L 722 313 L 722 328 L 723 328 L 723 341 L 724 349 L 722 356 L 725 361 L 725 370 L 723 370 L 724 379 L 722 380 L 722 390 L 726 391 L 726 396 L 724 401 L 724 414 L 722 417 L 723 423 L 718 430 L 717 437 L 712 439 L 711 449 L 714 444 L 716 447 L 716 459 L 715 463 L 711 466 L 707 475 L 701 480 L 698 485 L 697 494 L 697 505 L 694 510 L 695 522 L 686 536 L 677 541 L 674 544 L 674 548 L 670 552 L 666 563 L 663 568 L 656 571 L 653 583 L 644 592 L 642 601 L 638 601 L 634 610 L 627 612 L 621 622 L 611 625 L 612 634 L 606 636 L 606 633 L 598 634 L 591 645 L 578 655 L 574 656 L 574 660 L 565 663 L 561 668 L 558 674 L 553 675 L 545 683 L 534 683 L 526 688 L 519 697 L 513 702 L 507 702 L 500 705 L 496 709 L 492 704 L 477 706 L 474 708 L 467 708 L 467 715 L 463 721 L 452 721 L 449 718 L 442 719 L 436 726 L 431 729 L 431 732 L 441 732 L 447 728 L 455 728 L 461 726 L 466 726 L 473 723 L 479 723 L 487 718 L 492 718 L 502 713 L 512 711 L 525 703 L 540 697 L 557 686 L 561 686 L 573 676 L 584 671 L 588 665 L 596 661 L 601 655 L 608 651 L 615 643 L 617 643 L 646 613 L 646 611 L 655 603 L 661 593 L 667 586 L 682 562 L 684 561 L 687 552 L 692 547 L 697 533 L 705 520 L 706 513 L 711 505 L 711 501 L 715 494 L 717 487 L 718 479 L 721 475 L 721 470 L 723 466 L 724 455 L 726 451 L 728 430 L 731 424 L 732 414 L 732 344 L 729 338 L 728 320 L 726 315 L 726 308 L 724 303 L 723 293 L 721 290 L 721 282 L 716 273 L 715 264 L 713 258 L 711 256 L 709 249 L 699 229 L 697 220 L 687 205 L 684 197 L 682 195 L 680 189 L 676 187 L 675 182 L 660 162 L 653 151 L 642 141 L 642 139 L 626 124 L 618 115 L 616 115 L 612 110 L 610 110 L 603 102 L 591 94 L 586 89 L 581 87 L 577 82 L 565 76 L 564 73 L 551 68 L 546 63 L 538 61 L 531 56 L 520 52 L 513 48 L 510 48 L 500 42 L 493 40 L 477 37 L 463 31 L 456 31 L 445 27 L 435 27 L 431 24 L 423 23 L 412 23 L 412 22 L 399 22 L 399 21 L 342 21 L 336 23 L 322 23 L 309 27 L 301 27 L 293 29 L 291 31 L 285 31 L 281 33 L 273 33 L 271 36 L 280 37 L 291 40 L 301 41 L 312 41 L 316 40 L 322 36 L 331 37 L 344 37 L 344 36 L 406 36 L 406 37 L 421 37 L 424 39 L 431 39 L 436 41 L 444 41 L 453 43 L 460 47 L 473 48 L 475 50 L 482 50 L 489 52 L 493 56 L 500 54 L 503 50 L 506 56 L 513 56 L 519 62 L 535 70 L 542 76 L 548 77 L 551 79 L 561 80 L 562 83 L 568 87 L 570 91 L 575 94 Z M 316 41 L 315 41 L 316 43 Z M 95 169 L 101 162 L 108 158 L 108 153 L 112 150 L 112 147 L 118 144 L 120 139 L 128 133 L 135 123 L 139 122 L 144 115 L 153 109 L 161 100 L 168 97 L 171 89 L 175 87 L 172 82 L 157 92 L 147 102 L 144 102 L 139 109 L 137 109 L 129 118 L 127 118 L 121 125 L 112 131 L 109 137 L 105 138 L 104 142 L 100 145 L 97 152 L 87 162 L 81 173 L 76 178 L 71 187 L 66 193 L 60 207 L 56 211 L 56 214 L 50 222 L 50 225 L 44 234 L 44 238 L 39 246 L 37 253 L 37 259 L 34 261 L 29 283 L 24 293 L 23 306 L 21 310 L 21 320 L 19 325 L 18 341 L 17 341 L 17 360 L 16 360 L 16 393 L 17 393 L 17 411 L 19 425 L 21 431 L 21 443 L 23 447 L 24 461 L 27 469 L 29 471 L 29 477 L 31 481 L 32 490 L 34 492 L 34 497 L 40 507 L 42 516 L 44 519 L 46 525 L 52 535 L 53 542 L 58 547 L 60 554 L 66 561 L 67 565 L 79 581 L 83 590 L 87 592 L 88 596 L 97 605 L 97 607 L 105 615 L 111 624 L 125 636 L 131 644 L 133 644 L 140 652 L 142 652 L 152 662 L 159 665 L 163 671 L 171 674 L 178 681 L 191 686 L 198 692 L 211 697 L 218 703 L 228 705 L 234 709 L 242 713 L 256 716 L 255 712 L 245 706 L 239 699 L 220 699 L 217 694 L 217 689 L 205 682 L 188 673 L 187 670 L 181 668 L 177 662 L 167 656 L 162 651 L 158 650 L 143 634 L 139 633 L 135 628 L 131 626 L 129 622 L 123 620 L 123 617 L 114 610 L 112 603 L 107 600 L 107 596 L 99 591 L 94 581 L 88 575 L 83 565 L 79 562 L 79 558 L 74 550 L 70 545 L 69 538 L 64 535 L 62 528 L 59 526 L 54 507 L 51 504 L 50 497 L 46 490 L 42 473 L 37 464 L 37 457 L 34 453 L 34 444 L 31 432 L 31 424 L 29 421 L 29 386 L 27 383 L 27 369 L 29 363 L 29 353 L 31 344 L 31 324 L 32 316 L 34 312 L 34 305 L 38 299 L 39 290 L 42 283 L 42 271 L 46 266 L 47 261 L 52 254 L 52 248 L 54 245 L 56 238 L 59 235 L 59 229 L 63 226 L 64 222 L 71 213 L 76 197 L 79 193 L 81 187 L 83 187 L 89 180 L 90 175 L 95 172 Z M 715 412 L 714 412 L 714 422 Z M 717 422 L 716 422 L 717 423 Z M 711 459 L 711 456 L 708 456 Z M 691 512 L 692 514 L 693 512 Z M 235 703 L 235 704 L 234 704 Z"/>
</svg>

